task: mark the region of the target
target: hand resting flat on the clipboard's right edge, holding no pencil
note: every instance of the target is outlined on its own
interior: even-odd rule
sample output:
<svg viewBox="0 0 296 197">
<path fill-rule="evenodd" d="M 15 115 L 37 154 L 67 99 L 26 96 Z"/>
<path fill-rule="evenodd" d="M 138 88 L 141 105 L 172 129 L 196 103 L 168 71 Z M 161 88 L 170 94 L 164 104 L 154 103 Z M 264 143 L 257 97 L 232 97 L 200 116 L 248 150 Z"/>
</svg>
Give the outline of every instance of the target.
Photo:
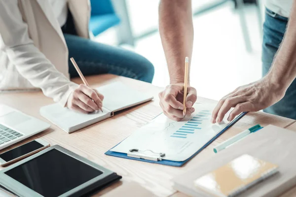
<svg viewBox="0 0 296 197">
<path fill-rule="evenodd" d="M 241 112 L 265 109 L 282 99 L 285 92 L 285 88 L 272 83 L 268 76 L 238 87 L 218 102 L 213 111 L 211 122 L 221 122 L 231 107 L 234 109 L 230 112 L 228 121 L 232 121 Z"/>
</svg>

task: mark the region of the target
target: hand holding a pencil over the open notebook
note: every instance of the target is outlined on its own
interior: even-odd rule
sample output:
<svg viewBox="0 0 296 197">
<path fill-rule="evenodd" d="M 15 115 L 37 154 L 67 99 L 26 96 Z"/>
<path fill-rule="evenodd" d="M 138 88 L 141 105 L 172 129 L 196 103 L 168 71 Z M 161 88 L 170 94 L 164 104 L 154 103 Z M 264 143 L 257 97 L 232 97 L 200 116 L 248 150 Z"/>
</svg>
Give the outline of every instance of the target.
<svg viewBox="0 0 296 197">
<path fill-rule="evenodd" d="M 84 84 L 80 84 L 70 95 L 67 106 L 69 109 L 81 113 L 89 113 L 95 110 L 101 110 L 104 96 Z"/>
</svg>

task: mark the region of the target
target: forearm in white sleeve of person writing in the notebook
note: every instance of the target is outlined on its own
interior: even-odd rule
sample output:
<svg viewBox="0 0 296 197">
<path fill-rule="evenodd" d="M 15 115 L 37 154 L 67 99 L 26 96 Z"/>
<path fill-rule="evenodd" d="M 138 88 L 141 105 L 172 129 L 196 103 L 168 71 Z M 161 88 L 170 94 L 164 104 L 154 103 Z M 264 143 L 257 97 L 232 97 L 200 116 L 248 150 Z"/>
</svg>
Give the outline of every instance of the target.
<svg viewBox="0 0 296 197">
<path fill-rule="evenodd" d="M 59 72 L 33 45 L 27 44 L 6 49 L 7 56 L 18 72 L 33 86 L 42 89 L 45 96 L 65 105 L 77 84 Z"/>
</svg>

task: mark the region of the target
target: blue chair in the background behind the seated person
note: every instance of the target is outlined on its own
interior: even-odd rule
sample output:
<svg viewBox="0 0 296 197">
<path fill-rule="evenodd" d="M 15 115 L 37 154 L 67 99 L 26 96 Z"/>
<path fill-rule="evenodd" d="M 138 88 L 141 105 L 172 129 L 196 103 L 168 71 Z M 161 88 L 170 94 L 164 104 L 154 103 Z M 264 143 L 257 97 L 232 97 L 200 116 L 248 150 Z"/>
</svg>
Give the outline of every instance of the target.
<svg viewBox="0 0 296 197">
<path fill-rule="evenodd" d="M 89 30 L 94 36 L 120 23 L 114 12 L 111 0 L 90 0 L 91 16 Z"/>
</svg>

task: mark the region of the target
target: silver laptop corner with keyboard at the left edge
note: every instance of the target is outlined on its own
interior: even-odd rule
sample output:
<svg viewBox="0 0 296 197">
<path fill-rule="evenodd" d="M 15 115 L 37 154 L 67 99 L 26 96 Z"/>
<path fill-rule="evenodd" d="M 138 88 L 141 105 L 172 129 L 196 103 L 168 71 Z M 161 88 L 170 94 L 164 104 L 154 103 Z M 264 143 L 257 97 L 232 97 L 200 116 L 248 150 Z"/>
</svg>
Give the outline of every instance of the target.
<svg viewBox="0 0 296 197">
<path fill-rule="evenodd" d="M 0 150 L 49 127 L 37 118 L 0 104 Z"/>
</svg>

